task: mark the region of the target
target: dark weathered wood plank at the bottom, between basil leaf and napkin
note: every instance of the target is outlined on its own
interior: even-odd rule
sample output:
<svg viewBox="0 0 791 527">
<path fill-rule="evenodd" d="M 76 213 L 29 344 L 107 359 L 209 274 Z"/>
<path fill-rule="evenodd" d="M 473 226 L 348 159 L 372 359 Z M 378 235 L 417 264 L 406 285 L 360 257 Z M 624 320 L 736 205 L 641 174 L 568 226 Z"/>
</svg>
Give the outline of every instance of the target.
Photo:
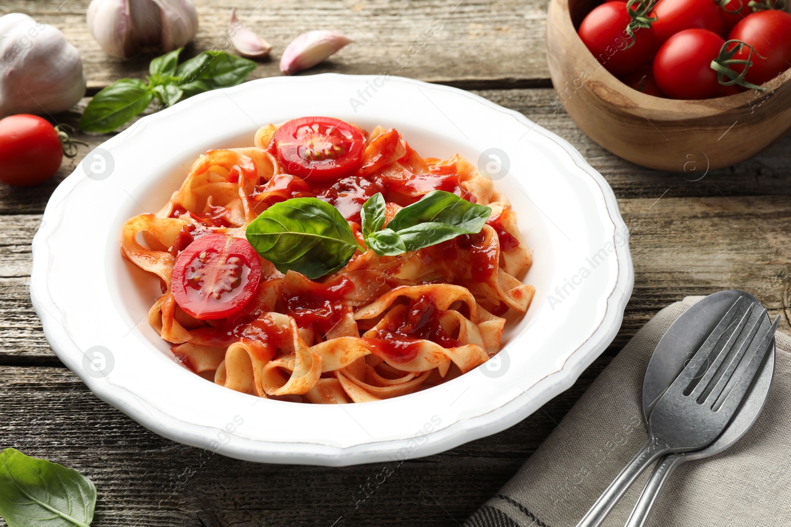
<svg viewBox="0 0 791 527">
<path fill-rule="evenodd" d="M 456 525 L 452 518 L 464 521 L 509 480 L 608 362 L 507 431 L 391 463 L 392 475 L 357 508 L 354 493 L 384 464 L 330 469 L 209 456 L 154 435 L 62 368 L 0 367 L 0 448 L 89 476 L 99 495 L 94 525 Z"/>
</svg>

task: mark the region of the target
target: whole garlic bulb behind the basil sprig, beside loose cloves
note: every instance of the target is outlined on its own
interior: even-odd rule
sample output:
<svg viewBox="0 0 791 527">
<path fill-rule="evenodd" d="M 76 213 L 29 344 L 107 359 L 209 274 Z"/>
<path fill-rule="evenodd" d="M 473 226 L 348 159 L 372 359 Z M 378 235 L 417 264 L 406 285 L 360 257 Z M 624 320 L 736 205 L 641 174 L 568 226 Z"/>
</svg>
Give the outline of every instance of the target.
<svg viewBox="0 0 791 527">
<path fill-rule="evenodd" d="M 129 58 L 184 46 L 198 32 L 198 12 L 191 0 L 93 0 L 88 28 L 108 54 Z"/>
</svg>

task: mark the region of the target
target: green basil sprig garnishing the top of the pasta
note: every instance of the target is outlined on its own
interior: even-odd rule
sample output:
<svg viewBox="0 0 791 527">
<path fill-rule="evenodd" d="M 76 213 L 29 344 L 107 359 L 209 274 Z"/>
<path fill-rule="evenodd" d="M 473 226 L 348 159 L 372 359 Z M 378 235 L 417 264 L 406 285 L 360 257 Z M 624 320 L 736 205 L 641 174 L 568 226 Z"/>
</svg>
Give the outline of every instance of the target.
<svg viewBox="0 0 791 527">
<path fill-rule="evenodd" d="M 365 245 L 381 256 L 418 250 L 458 235 L 480 232 L 492 212 L 456 194 L 433 190 L 395 213 L 384 228 L 382 194 L 365 201 L 360 213 Z M 293 198 L 263 211 L 247 227 L 248 242 L 285 273 L 315 279 L 343 268 L 360 247 L 338 209 L 317 198 Z"/>
</svg>

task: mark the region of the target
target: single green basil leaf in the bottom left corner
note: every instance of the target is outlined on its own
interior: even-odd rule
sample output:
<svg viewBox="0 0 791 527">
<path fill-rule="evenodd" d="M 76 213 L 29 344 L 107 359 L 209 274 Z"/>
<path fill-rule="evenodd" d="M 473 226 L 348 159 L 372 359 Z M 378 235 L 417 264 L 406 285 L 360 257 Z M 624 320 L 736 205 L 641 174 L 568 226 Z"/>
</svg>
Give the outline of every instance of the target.
<svg viewBox="0 0 791 527">
<path fill-rule="evenodd" d="M 0 454 L 0 516 L 9 527 L 88 527 L 97 489 L 76 470 L 7 448 Z"/>
</svg>

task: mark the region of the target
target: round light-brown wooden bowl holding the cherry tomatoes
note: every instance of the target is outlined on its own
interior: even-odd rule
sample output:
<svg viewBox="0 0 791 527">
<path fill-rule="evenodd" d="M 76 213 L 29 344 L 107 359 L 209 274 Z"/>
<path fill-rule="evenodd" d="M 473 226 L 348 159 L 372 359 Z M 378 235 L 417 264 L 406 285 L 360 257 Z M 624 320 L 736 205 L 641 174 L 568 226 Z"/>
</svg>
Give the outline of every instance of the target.
<svg viewBox="0 0 791 527">
<path fill-rule="evenodd" d="M 551 0 L 547 59 L 563 107 L 585 134 L 633 163 L 703 171 L 746 160 L 791 127 L 791 69 L 749 90 L 707 100 L 638 92 L 615 78 L 585 47 L 577 28 L 596 0 Z"/>
</svg>

